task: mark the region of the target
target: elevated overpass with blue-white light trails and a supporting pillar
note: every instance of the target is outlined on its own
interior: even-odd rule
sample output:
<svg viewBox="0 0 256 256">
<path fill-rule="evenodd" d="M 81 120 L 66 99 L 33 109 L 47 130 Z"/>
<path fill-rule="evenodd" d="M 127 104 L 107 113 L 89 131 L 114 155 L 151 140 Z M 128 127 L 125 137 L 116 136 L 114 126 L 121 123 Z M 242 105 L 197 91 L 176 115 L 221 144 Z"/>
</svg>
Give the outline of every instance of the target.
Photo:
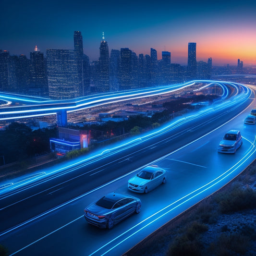
<svg viewBox="0 0 256 256">
<path fill-rule="evenodd" d="M 193 85 L 201 86 L 199 86 L 196 90 L 200 90 L 201 88 L 210 87 L 213 85 L 218 85 L 221 87 L 222 90 L 222 99 L 227 98 L 230 95 L 228 91 L 231 87 L 234 89 L 233 91 L 235 91 L 237 94 L 244 91 L 243 85 L 221 81 L 195 80 L 183 84 L 150 87 L 121 92 L 109 92 L 68 100 L 50 100 L 47 98 L 0 92 L 0 99 L 2 101 L 11 101 L 13 104 L 19 104 L 19 106 L 8 106 L 0 108 L 0 121 L 56 115 L 58 126 L 65 127 L 67 126 L 67 113 L 70 112 L 125 100 L 168 94 Z"/>
</svg>

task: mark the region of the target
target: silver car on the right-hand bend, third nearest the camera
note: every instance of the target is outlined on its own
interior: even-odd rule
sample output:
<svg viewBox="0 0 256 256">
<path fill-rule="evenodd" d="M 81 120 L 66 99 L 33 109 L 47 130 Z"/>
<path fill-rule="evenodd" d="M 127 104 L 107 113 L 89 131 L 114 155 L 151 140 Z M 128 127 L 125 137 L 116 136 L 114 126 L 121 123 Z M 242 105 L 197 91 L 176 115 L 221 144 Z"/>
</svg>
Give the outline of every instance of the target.
<svg viewBox="0 0 256 256">
<path fill-rule="evenodd" d="M 238 130 L 230 130 L 219 143 L 218 152 L 235 153 L 237 148 L 243 144 L 242 136 Z"/>
</svg>

